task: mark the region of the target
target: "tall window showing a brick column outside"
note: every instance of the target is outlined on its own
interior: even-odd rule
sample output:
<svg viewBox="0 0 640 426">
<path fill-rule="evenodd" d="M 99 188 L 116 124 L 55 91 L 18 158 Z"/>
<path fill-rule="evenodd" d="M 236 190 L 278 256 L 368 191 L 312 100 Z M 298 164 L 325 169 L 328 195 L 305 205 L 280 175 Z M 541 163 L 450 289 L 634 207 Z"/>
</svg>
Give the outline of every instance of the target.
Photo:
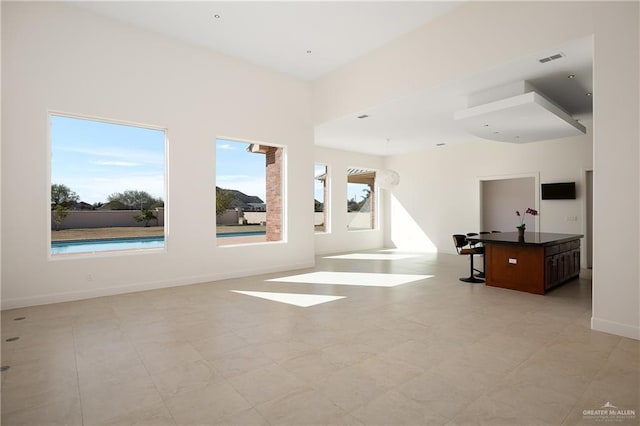
<svg viewBox="0 0 640 426">
<path fill-rule="evenodd" d="M 216 140 L 218 245 L 283 240 L 284 148 Z"/>
</svg>

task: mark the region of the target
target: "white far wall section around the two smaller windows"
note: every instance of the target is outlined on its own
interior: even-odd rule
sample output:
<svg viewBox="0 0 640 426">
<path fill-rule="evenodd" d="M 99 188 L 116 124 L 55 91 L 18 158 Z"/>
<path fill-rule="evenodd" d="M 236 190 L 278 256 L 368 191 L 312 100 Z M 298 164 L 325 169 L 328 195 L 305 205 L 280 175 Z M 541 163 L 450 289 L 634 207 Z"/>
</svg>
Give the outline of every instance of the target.
<svg viewBox="0 0 640 426">
<path fill-rule="evenodd" d="M 326 164 L 329 174 L 329 209 L 330 232 L 315 235 L 317 254 L 325 254 L 349 250 L 364 250 L 382 247 L 384 242 L 383 208 L 380 208 L 378 222 L 380 226 L 373 230 L 348 231 L 347 224 L 347 169 L 358 167 L 379 170 L 382 168 L 381 157 L 357 154 L 328 148 L 315 148 L 315 162 Z M 309 168 L 313 172 L 312 168 Z M 312 185 L 312 178 L 309 179 Z M 384 190 L 378 190 L 378 200 L 384 197 Z M 312 211 L 309 203 L 309 211 Z"/>
</svg>

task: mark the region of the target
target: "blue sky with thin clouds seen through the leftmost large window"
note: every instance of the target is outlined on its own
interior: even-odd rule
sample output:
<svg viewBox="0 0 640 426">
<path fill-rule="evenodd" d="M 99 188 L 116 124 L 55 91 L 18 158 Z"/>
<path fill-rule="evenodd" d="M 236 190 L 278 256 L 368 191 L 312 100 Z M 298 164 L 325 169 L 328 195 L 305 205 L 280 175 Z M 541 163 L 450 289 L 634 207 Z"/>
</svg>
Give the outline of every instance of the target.
<svg viewBox="0 0 640 426">
<path fill-rule="evenodd" d="M 51 115 L 51 183 L 84 202 L 106 202 L 115 192 L 164 196 L 165 133 Z"/>
</svg>

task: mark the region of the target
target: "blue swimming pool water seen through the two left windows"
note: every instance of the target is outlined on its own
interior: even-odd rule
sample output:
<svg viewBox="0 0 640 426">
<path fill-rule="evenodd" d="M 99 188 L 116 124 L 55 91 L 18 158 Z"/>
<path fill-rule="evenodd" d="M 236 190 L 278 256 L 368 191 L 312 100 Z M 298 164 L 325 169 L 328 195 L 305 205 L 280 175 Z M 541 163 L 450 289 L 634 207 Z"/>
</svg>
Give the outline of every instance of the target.
<svg viewBox="0 0 640 426">
<path fill-rule="evenodd" d="M 231 232 L 216 234 L 218 238 L 265 235 L 266 232 Z M 52 241 L 51 254 L 93 253 L 96 251 L 140 250 L 163 248 L 164 237 L 113 238 L 108 240 Z"/>
</svg>

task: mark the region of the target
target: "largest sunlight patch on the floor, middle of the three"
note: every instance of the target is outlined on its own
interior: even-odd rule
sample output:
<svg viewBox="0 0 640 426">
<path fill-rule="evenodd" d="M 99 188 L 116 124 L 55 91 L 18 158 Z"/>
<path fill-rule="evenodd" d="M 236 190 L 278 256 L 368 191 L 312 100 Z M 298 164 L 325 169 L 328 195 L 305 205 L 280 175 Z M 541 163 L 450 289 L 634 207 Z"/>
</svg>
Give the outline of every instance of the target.
<svg viewBox="0 0 640 426">
<path fill-rule="evenodd" d="M 311 272 L 309 274 L 291 275 L 274 278 L 267 281 L 303 283 L 303 284 L 332 284 L 359 285 L 369 287 L 396 287 L 415 281 L 431 278 L 433 275 L 408 274 L 376 274 L 370 272 Z"/>
</svg>

